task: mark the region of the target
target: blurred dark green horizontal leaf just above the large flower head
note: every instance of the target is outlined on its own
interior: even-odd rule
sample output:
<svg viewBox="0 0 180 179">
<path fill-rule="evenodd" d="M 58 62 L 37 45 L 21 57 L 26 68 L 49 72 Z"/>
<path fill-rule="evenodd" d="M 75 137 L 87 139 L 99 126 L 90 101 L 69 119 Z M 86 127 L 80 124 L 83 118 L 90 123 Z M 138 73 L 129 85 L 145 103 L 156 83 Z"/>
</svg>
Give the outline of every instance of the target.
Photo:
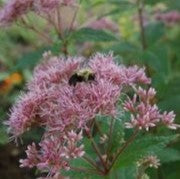
<svg viewBox="0 0 180 179">
<path fill-rule="evenodd" d="M 104 30 L 95 30 L 91 28 L 82 28 L 74 32 L 70 39 L 77 40 L 78 42 L 109 42 L 116 41 L 117 38 L 110 32 Z"/>
</svg>

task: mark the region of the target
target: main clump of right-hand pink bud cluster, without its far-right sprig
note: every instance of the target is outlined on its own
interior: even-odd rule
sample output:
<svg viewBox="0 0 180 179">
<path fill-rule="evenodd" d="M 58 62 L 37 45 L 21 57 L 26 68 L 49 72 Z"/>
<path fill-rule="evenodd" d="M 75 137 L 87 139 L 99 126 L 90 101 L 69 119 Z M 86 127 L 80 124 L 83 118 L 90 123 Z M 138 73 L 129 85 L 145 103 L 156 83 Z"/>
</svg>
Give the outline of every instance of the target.
<svg viewBox="0 0 180 179">
<path fill-rule="evenodd" d="M 123 104 L 124 109 L 131 113 L 131 121 L 125 125 L 127 128 L 149 130 L 150 127 L 155 127 L 161 118 L 158 107 L 150 103 L 155 97 L 155 90 L 139 88 L 135 89 L 135 92 L 133 99 L 128 98 Z"/>
</svg>

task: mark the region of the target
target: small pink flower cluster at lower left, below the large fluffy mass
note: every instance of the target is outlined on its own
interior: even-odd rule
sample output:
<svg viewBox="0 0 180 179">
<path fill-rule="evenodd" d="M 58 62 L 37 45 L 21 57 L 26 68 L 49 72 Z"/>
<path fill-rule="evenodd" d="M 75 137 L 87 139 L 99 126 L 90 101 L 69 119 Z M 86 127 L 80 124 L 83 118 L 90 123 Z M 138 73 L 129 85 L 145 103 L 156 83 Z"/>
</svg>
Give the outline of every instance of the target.
<svg viewBox="0 0 180 179">
<path fill-rule="evenodd" d="M 40 150 L 35 143 L 29 145 L 26 150 L 27 159 L 20 160 L 20 167 L 37 167 L 41 171 L 56 176 L 61 169 L 69 170 L 69 159 L 82 157 L 84 155 L 83 145 L 77 147 L 82 139 L 82 132 L 76 134 L 74 131 L 67 132 L 64 136 L 46 137 L 40 142 Z"/>
</svg>

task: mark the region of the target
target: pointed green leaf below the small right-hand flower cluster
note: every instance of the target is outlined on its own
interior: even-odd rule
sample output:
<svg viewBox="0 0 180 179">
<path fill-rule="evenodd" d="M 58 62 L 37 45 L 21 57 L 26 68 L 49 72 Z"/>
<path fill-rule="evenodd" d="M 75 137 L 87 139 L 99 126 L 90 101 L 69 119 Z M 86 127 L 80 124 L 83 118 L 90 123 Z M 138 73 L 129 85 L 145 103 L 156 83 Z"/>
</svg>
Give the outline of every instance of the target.
<svg viewBox="0 0 180 179">
<path fill-rule="evenodd" d="M 146 136 L 132 143 L 116 161 L 114 168 L 121 168 L 132 165 L 140 158 L 160 152 L 169 142 L 175 140 L 173 136 Z"/>
</svg>

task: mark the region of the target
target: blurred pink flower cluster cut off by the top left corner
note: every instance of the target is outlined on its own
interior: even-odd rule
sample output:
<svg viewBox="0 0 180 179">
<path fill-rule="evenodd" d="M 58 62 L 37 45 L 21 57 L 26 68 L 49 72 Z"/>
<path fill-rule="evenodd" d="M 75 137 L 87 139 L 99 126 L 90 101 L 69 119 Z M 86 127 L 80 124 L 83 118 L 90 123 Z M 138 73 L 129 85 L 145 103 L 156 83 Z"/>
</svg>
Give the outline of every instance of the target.
<svg viewBox="0 0 180 179">
<path fill-rule="evenodd" d="M 0 11 L 0 24 L 9 24 L 29 11 L 49 13 L 60 5 L 73 5 L 76 0 L 9 0 Z"/>
</svg>

